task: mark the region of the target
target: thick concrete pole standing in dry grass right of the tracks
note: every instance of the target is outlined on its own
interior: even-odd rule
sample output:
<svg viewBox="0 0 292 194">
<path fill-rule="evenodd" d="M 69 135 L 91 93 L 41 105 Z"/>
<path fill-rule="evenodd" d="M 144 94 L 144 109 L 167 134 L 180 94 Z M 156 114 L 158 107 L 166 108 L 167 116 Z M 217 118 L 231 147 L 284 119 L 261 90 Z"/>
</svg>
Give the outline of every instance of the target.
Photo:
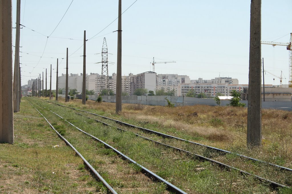
<svg viewBox="0 0 292 194">
<path fill-rule="evenodd" d="M 261 121 L 261 0 L 251 1 L 247 146 L 260 146 L 262 142 Z"/>
</svg>

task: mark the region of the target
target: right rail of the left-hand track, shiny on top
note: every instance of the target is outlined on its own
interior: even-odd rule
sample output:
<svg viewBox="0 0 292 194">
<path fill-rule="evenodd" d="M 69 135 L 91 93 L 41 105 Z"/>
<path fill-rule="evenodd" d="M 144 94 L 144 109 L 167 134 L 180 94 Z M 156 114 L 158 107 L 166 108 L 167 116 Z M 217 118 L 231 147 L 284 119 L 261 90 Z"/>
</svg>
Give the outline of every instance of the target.
<svg viewBox="0 0 292 194">
<path fill-rule="evenodd" d="M 50 110 L 51 111 L 51 110 Z M 81 131 L 82 133 L 92 137 L 94 140 L 97 140 L 98 142 L 101 142 L 102 144 L 105 145 L 105 147 L 112 149 L 114 152 L 116 152 L 119 156 L 121 156 L 122 158 L 130 161 L 131 163 L 138 165 L 139 167 L 141 167 L 142 172 L 147 174 L 149 177 L 152 177 L 153 179 L 157 180 L 157 181 L 161 181 L 163 183 L 166 184 L 166 188 L 174 193 L 177 194 L 187 194 L 185 191 L 181 190 L 180 188 L 174 186 L 173 184 L 171 184 L 170 182 L 166 181 L 165 179 L 159 177 L 157 174 L 155 174 L 154 172 L 148 170 L 147 168 L 145 168 L 144 166 L 140 165 L 139 163 L 137 163 L 136 161 L 134 161 L 133 159 L 129 158 L 128 156 L 126 156 L 125 154 L 123 154 L 122 152 L 120 152 L 119 150 L 115 149 L 114 147 L 110 146 L 109 144 L 107 144 L 106 142 L 98 139 L 97 137 L 85 132 L 84 130 L 78 128 L 77 126 L 75 126 L 74 124 L 70 123 L 69 121 L 67 121 L 66 119 L 64 119 L 63 117 L 61 117 L 60 115 L 58 115 L 57 113 L 51 111 L 53 114 L 57 115 L 58 117 L 60 117 L 61 119 L 63 119 L 64 121 L 66 121 L 67 123 L 69 123 L 70 125 L 72 125 L 73 127 L 77 128 L 79 131 Z"/>
</svg>

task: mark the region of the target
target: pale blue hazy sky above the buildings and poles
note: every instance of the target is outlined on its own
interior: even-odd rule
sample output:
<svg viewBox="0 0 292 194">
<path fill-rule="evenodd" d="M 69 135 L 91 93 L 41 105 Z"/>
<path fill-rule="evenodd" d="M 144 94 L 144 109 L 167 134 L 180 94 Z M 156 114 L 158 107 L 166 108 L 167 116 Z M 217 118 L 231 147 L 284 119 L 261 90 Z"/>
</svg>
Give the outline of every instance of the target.
<svg viewBox="0 0 292 194">
<path fill-rule="evenodd" d="M 49 74 L 52 64 L 55 89 L 57 58 L 59 75 L 65 74 L 67 47 L 69 73 L 82 73 L 84 30 L 86 39 L 90 39 L 118 16 L 118 0 L 74 0 L 69 7 L 71 1 L 21 0 L 20 24 L 25 26 L 20 30 L 22 85 L 45 73 L 46 68 Z M 122 12 L 134 2 L 122 0 Z M 263 41 L 289 42 L 291 7 L 291 0 L 262 0 Z M 12 10 L 15 27 L 16 0 Z M 154 57 L 157 62 L 176 61 L 156 64 L 158 74 L 188 75 L 191 79 L 213 79 L 220 75 L 248 84 L 249 26 L 250 0 L 138 0 L 122 15 L 122 75 L 152 71 L 150 63 Z M 95 63 L 101 61 L 104 37 L 109 61 L 114 63 L 109 64 L 109 75 L 117 72 L 117 32 L 113 32 L 116 30 L 117 20 L 86 42 L 86 73 L 101 73 L 101 64 Z M 262 45 L 262 57 L 265 70 L 277 76 L 282 70 L 283 78 L 286 77 L 283 84 L 288 84 L 286 47 Z M 279 78 L 267 73 L 265 84 L 279 84 Z"/>
</svg>

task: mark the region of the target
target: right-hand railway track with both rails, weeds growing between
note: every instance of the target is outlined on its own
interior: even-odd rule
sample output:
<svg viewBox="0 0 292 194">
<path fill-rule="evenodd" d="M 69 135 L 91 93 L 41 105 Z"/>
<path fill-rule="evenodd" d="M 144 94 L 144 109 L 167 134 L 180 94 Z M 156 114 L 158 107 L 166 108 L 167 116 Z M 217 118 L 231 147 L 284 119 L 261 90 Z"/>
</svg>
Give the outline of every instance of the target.
<svg viewBox="0 0 292 194">
<path fill-rule="evenodd" d="M 50 102 L 50 103 L 52 103 L 52 102 Z M 67 107 L 67 106 L 64 106 L 64 105 L 57 104 L 57 103 L 55 103 L 55 104 L 56 105 L 59 105 L 59 106 L 62 106 L 62 107 Z M 98 120 L 98 119 L 95 119 L 95 118 L 92 118 L 92 117 L 88 117 L 88 116 L 86 116 L 84 114 L 80 114 L 80 113 L 76 112 L 78 115 L 81 115 L 83 117 L 87 117 L 87 118 L 90 118 L 90 119 L 94 119 L 95 121 L 101 122 L 104 125 L 117 127 L 117 129 L 118 130 L 121 130 L 121 131 L 130 131 L 130 132 L 133 132 L 133 130 L 131 130 L 131 128 L 132 128 L 132 129 L 136 129 L 136 130 L 140 130 L 140 131 L 146 132 L 147 134 L 150 133 L 152 135 L 154 134 L 155 136 L 162 137 L 162 139 L 160 138 L 160 140 L 156 141 L 156 140 L 153 140 L 153 139 L 159 139 L 159 138 L 154 137 L 154 136 L 152 136 L 151 138 L 149 138 L 149 135 L 148 135 L 148 137 L 146 137 L 147 134 L 141 134 L 141 133 L 137 133 L 137 132 L 135 133 L 134 132 L 136 136 L 141 137 L 141 138 L 143 138 L 145 140 L 152 141 L 152 142 L 154 142 L 156 144 L 160 144 L 162 146 L 175 149 L 177 151 L 185 152 L 186 154 L 188 154 L 190 156 L 194 156 L 195 158 L 197 158 L 199 160 L 209 161 L 209 162 L 211 162 L 211 163 L 213 163 L 215 165 L 218 165 L 220 167 L 226 168 L 228 170 L 236 170 L 236 171 L 240 172 L 241 174 L 248 175 L 248 176 L 252 176 L 255 179 L 258 179 L 258 180 L 260 180 L 262 182 L 266 182 L 266 183 L 270 184 L 270 186 L 272 186 L 273 188 L 283 188 L 283 187 L 290 187 L 291 186 L 290 184 L 288 184 L 288 186 L 287 186 L 285 184 L 277 183 L 276 181 L 271 181 L 271 180 L 269 180 L 267 178 L 263 178 L 263 177 L 257 176 L 255 174 L 249 173 L 249 172 L 247 172 L 245 170 L 240 170 L 239 168 L 233 167 L 232 165 L 228 165 L 228 164 L 225 164 L 223 162 L 216 161 L 214 159 L 201 156 L 199 154 L 195 154 L 193 151 L 187 151 L 187 150 L 184 150 L 182 148 L 178 148 L 178 147 L 175 147 L 175 146 L 172 146 L 170 144 L 163 143 L 163 142 L 164 142 L 164 139 L 174 139 L 174 140 L 178 140 L 178 141 L 182 141 L 182 142 L 187 142 L 187 143 L 190 143 L 190 144 L 194 144 L 196 146 L 205 147 L 206 149 L 209 149 L 209 150 L 212 150 L 212 151 L 215 151 L 215 152 L 219 152 L 220 154 L 217 154 L 216 155 L 217 158 L 219 158 L 219 159 L 220 159 L 220 157 L 222 158 L 225 154 L 229 154 L 229 155 L 232 154 L 232 155 L 237 156 L 237 158 L 241 158 L 241 159 L 244 159 L 246 161 L 252 161 L 253 163 L 264 164 L 265 167 L 272 167 L 272 168 L 275 169 L 272 173 L 275 173 L 276 172 L 278 174 L 281 174 L 280 172 L 284 172 L 284 175 L 282 175 L 282 176 L 283 177 L 286 177 L 286 178 L 289 177 L 288 178 L 288 182 L 291 181 L 291 171 L 292 170 L 290 168 L 283 167 L 283 166 L 279 166 L 279 165 L 272 164 L 272 163 L 268 163 L 268 162 L 261 161 L 261 160 L 258 160 L 258 159 L 255 159 L 255 158 L 251 158 L 251 157 L 248 157 L 248 156 L 244 156 L 244 155 L 241 155 L 241 154 L 233 154 L 230 151 L 218 149 L 218 148 L 215 148 L 215 147 L 206 146 L 206 145 L 203 145 L 203 144 L 199 144 L 197 142 L 192 142 L 192 141 L 184 140 L 182 138 L 174 137 L 174 136 L 167 135 L 167 134 L 164 134 L 164 133 L 160 133 L 160 132 L 157 132 L 157 131 L 154 131 L 154 130 L 149 130 L 149 129 L 146 129 L 146 128 L 134 126 L 134 125 L 131 125 L 131 124 L 128 124 L 128 123 L 124 123 L 122 121 L 117 121 L 115 119 L 111 119 L 111 118 L 108 118 L 108 117 L 104 117 L 104 116 L 101 116 L 101 115 L 98 115 L 98 114 L 95 114 L 95 113 L 91 113 L 91 112 L 88 112 L 88 111 L 80 110 L 80 109 L 77 109 L 77 108 L 73 108 L 73 107 L 67 107 L 67 108 L 71 108 L 71 109 L 74 109 L 74 110 L 77 110 L 77 111 L 85 112 L 86 114 L 91 114 L 91 115 L 94 115 L 96 117 L 100 117 L 102 119 L 106 119 L 106 120 L 112 121 L 113 123 L 115 123 L 114 125 L 110 125 L 108 123 L 105 123 L 104 121 L 101 121 L 101 120 Z M 124 129 L 121 128 L 120 126 L 123 126 Z M 126 129 L 125 129 L 125 126 L 126 126 Z M 166 140 L 166 142 L 167 141 L 168 140 Z M 225 159 L 225 161 L 226 161 L 226 159 Z M 247 169 L 252 169 L 252 168 L 247 168 Z M 253 171 L 253 170 L 251 170 L 251 171 Z M 281 177 L 279 179 L 281 179 Z"/>
</svg>

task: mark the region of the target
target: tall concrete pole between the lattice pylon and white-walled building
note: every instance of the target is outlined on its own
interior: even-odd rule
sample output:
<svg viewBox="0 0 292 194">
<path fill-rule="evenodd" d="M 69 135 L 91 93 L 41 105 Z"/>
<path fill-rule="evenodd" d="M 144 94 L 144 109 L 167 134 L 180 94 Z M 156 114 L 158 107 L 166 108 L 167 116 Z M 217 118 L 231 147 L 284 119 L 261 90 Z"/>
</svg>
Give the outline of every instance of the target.
<svg viewBox="0 0 292 194">
<path fill-rule="evenodd" d="M 122 3 L 119 0 L 116 114 L 122 111 Z"/>
</svg>

